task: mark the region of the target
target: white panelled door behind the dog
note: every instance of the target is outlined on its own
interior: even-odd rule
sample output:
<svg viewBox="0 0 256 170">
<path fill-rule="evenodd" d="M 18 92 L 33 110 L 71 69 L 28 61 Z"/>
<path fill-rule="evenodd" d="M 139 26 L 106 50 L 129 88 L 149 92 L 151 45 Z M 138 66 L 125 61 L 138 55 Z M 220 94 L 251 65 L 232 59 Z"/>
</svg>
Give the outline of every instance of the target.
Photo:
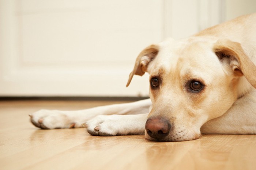
<svg viewBox="0 0 256 170">
<path fill-rule="evenodd" d="M 0 0 L 0 96 L 147 96 L 147 75 L 125 87 L 139 52 L 217 24 L 219 3 Z"/>
</svg>

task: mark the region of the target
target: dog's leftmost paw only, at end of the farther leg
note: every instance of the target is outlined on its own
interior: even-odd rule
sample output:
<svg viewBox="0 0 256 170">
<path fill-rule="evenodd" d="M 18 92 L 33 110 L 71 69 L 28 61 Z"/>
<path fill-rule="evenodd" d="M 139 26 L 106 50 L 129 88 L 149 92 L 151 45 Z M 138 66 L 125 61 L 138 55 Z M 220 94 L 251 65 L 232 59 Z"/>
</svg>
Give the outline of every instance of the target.
<svg viewBox="0 0 256 170">
<path fill-rule="evenodd" d="M 30 121 L 41 129 L 62 129 L 76 127 L 67 114 L 59 110 L 39 110 L 29 114 Z"/>
</svg>

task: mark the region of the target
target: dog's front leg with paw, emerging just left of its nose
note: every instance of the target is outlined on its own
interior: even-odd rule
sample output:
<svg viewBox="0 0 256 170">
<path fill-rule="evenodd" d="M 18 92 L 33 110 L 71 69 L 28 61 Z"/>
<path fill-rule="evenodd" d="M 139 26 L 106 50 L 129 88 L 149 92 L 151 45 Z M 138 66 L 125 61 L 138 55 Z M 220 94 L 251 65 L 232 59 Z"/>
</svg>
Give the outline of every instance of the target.
<svg viewBox="0 0 256 170">
<path fill-rule="evenodd" d="M 98 136 L 142 135 L 145 131 L 147 114 L 99 115 L 84 123 L 88 133 Z"/>
</svg>

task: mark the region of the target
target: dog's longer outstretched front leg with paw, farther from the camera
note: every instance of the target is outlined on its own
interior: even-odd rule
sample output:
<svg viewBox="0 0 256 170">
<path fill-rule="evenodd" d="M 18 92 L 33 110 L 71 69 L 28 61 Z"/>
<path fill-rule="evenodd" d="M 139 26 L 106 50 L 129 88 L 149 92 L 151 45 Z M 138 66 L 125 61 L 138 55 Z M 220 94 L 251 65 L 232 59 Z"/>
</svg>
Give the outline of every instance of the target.
<svg viewBox="0 0 256 170">
<path fill-rule="evenodd" d="M 148 113 L 150 99 L 112 104 L 78 111 L 39 110 L 30 114 L 30 121 L 41 129 L 82 127 L 82 123 L 98 115 L 127 115 Z"/>
</svg>

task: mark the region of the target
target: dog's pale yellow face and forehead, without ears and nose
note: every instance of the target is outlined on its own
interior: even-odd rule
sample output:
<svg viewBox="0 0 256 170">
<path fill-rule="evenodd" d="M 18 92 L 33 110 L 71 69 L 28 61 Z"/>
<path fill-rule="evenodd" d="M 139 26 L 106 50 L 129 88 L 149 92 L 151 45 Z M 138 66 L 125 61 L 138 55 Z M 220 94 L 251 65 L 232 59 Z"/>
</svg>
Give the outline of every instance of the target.
<svg viewBox="0 0 256 170">
<path fill-rule="evenodd" d="M 148 66 L 153 103 L 148 119 L 161 116 L 169 121 L 169 135 L 160 140 L 197 139 L 207 120 L 221 116 L 231 107 L 236 99 L 235 87 L 210 43 L 174 43 L 162 45 Z M 146 137 L 156 139 L 148 133 Z"/>
</svg>

